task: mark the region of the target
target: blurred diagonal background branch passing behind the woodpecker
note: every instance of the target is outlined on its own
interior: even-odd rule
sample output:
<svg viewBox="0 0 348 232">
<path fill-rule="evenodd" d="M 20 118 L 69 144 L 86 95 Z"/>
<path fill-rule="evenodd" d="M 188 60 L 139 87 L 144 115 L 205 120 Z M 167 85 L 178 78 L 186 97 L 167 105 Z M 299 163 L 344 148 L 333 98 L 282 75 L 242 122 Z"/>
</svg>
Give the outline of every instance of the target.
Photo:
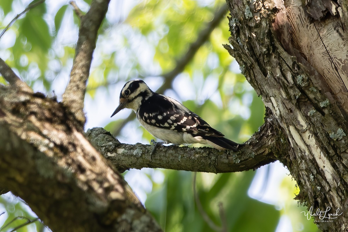
<svg viewBox="0 0 348 232">
<path fill-rule="evenodd" d="M 156 93 L 163 94 L 165 90 L 172 88 L 172 83 L 174 78 L 184 71 L 186 65 L 190 63 L 192 58 L 197 53 L 198 49 L 204 45 L 204 43 L 209 39 L 209 35 L 213 30 L 220 24 L 221 20 L 227 13 L 227 5 L 222 4 L 219 9 L 215 12 L 215 15 L 212 21 L 208 22 L 205 29 L 201 30 L 198 33 L 197 40 L 192 42 L 188 47 L 187 51 L 176 60 L 176 65 L 173 70 L 161 74 L 159 76 L 164 77 L 165 81 L 163 84 L 156 90 Z M 119 135 L 122 128 L 130 121 L 135 119 L 135 114 L 129 114 L 129 116 L 122 121 L 121 125 L 118 126 L 115 130 L 112 131 L 113 135 Z"/>
</svg>

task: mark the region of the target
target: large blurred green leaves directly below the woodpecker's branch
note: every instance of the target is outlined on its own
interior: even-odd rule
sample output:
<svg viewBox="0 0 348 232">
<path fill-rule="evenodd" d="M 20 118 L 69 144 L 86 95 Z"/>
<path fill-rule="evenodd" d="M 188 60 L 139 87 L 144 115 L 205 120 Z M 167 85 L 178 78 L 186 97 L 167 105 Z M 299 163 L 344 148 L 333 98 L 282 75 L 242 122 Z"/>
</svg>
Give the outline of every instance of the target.
<svg viewBox="0 0 348 232">
<path fill-rule="evenodd" d="M 166 231 L 214 231 L 195 206 L 193 174 L 185 171 L 166 171 L 166 174 L 165 184 L 155 186 L 145 204 L 160 225 Z M 221 202 L 228 231 L 275 230 L 279 211 L 247 195 L 253 176 L 253 171 L 198 175 L 197 194 L 205 212 L 216 225 L 221 225 L 218 207 Z M 245 223 L 249 221 L 253 223 Z"/>
</svg>

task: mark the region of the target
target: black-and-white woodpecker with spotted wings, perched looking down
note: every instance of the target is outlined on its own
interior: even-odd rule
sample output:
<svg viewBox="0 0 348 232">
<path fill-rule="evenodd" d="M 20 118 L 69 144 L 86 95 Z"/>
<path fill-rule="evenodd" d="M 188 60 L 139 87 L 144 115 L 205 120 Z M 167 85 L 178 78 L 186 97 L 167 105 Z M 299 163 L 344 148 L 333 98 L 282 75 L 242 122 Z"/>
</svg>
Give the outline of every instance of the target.
<svg viewBox="0 0 348 232">
<path fill-rule="evenodd" d="M 201 143 L 219 150 L 238 151 L 240 144 L 225 138 L 175 99 L 153 92 L 143 80 L 125 84 L 119 106 L 111 117 L 125 108 L 133 109 L 141 125 L 164 143 Z"/>
</svg>

